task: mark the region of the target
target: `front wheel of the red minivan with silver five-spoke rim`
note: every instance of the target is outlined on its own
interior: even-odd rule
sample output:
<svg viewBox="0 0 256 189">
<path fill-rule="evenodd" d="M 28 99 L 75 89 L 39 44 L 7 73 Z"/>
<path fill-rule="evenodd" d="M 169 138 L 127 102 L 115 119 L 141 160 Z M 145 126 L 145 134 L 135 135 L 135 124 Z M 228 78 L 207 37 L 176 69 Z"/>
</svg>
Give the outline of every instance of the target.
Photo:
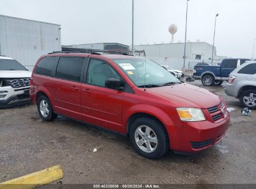
<svg viewBox="0 0 256 189">
<path fill-rule="evenodd" d="M 169 150 L 169 139 L 164 126 L 154 119 L 136 119 L 131 124 L 129 134 L 133 148 L 143 157 L 158 159 Z"/>
</svg>

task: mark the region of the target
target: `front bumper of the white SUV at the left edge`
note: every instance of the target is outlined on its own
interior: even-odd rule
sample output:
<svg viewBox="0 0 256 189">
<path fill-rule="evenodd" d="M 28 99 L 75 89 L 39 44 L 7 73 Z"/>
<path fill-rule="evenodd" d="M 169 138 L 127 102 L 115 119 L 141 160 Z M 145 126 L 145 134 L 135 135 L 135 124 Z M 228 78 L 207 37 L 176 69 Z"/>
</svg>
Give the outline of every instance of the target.
<svg viewBox="0 0 256 189">
<path fill-rule="evenodd" d="M 1 87 L 0 91 L 4 91 L 4 98 L 0 98 L 0 108 L 9 108 L 19 106 L 31 102 L 29 97 L 29 88 L 12 88 L 11 86 Z"/>
</svg>

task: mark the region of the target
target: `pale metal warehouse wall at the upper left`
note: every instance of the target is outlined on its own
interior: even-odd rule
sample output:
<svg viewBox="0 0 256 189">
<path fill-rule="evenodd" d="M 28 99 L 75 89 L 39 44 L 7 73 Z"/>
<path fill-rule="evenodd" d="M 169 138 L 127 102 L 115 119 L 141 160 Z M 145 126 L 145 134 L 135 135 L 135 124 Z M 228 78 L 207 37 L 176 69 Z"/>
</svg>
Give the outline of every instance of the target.
<svg viewBox="0 0 256 189">
<path fill-rule="evenodd" d="M 41 55 L 59 50 L 60 25 L 0 15 L 0 55 L 32 70 Z"/>
</svg>

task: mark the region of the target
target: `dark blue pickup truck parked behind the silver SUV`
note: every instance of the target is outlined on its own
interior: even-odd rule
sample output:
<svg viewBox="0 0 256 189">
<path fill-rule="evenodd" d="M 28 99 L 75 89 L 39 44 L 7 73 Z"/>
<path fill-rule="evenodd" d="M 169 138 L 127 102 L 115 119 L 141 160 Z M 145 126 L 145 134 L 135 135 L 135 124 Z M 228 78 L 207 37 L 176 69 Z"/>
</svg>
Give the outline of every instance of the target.
<svg viewBox="0 0 256 189">
<path fill-rule="evenodd" d="M 202 80 L 202 85 L 212 86 L 221 85 L 223 81 L 229 80 L 229 74 L 247 60 L 245 58 L 225 58 L 220 66 L 196 65 L 193 76 Z"/>
</svg>

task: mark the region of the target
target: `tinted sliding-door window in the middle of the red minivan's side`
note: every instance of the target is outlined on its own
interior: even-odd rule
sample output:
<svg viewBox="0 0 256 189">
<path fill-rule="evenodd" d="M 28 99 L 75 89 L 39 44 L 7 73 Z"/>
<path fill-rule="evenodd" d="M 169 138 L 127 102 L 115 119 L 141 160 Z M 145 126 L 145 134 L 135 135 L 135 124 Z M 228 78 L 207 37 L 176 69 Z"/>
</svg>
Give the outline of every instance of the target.
<svg viewBox="0 0 256 189">
<path fill-rule="evenodd" d="M 85 58 L 60 57 L 56 70 L 56 77 L 70 81 L 80 81 Z"/>
</svg>

